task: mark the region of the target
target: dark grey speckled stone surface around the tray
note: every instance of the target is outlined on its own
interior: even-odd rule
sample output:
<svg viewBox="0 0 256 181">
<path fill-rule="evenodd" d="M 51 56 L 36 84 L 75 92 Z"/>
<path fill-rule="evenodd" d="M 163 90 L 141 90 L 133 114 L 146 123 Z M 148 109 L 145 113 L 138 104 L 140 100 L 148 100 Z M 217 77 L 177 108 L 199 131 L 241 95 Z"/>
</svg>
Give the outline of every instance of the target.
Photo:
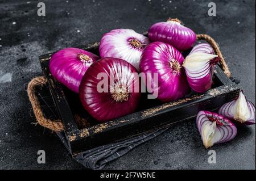
<svg viewBox="0 0 256 181">
<path fill-rule="evenodd" d="M 0 169 L 83 168 L 55 134 L 31 124 L 35 118 L 24 85 L 42 74 L 40 54 L 99 41 L 114 28 L 143 32 L 171 16 L 196 33 L 208 33 L 220 44 L 247 98 L 255 103 L 254 0 L 215 1 L 216 17 L 208 16 L 208 1 L 199 0 L 43 2 L 44 17 L 36 14 L 38 1 L 0 0 Z M 36 162 L 39 149 L 46 151 L 46 164 Z M 210 165 L 208 150 L 191 121 L 130 151 L 106 169 L 255 169 L 255 126 L 238 128 L 233 141 L 212 149 L 217 163 Z"/>
</svg>

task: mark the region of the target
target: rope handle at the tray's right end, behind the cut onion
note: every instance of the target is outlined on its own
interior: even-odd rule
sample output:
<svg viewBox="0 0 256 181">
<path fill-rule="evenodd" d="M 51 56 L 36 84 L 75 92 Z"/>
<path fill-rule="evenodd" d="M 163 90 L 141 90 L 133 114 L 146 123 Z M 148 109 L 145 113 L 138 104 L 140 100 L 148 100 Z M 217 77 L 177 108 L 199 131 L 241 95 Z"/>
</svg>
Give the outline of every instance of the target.
<svg viewBox="0 0 256 181">
<path fill-rule="evenodd" d="M 230 77 L 231 73 L 229 71 L 228 65 L 226 64 L 226 62 L 224 60 L 224 57 L 222 56 L 222 53 L 220 51 L 220 47 L 218 46 L 216 41 L 212 37 L 210 37 L 209 35 L 205 35 L 205 34 L 196 35 L 196 39 L 197 40 L 205 40 L 212 46 L 214 52 L 220 58 L 221 69 L 224 71 L 226 76 Z"/>
</svg>

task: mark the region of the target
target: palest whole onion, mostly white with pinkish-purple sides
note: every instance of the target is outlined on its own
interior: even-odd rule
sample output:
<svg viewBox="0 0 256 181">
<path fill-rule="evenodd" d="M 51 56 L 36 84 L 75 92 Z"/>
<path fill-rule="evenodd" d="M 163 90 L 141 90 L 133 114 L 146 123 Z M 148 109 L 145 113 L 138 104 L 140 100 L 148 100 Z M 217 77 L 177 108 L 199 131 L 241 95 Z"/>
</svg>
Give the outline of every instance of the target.
<svg viewBox="0 0 256 181">
<path fill-rule="evenodd" d="M 131 41 L 135 40 L 134 47 Z M 102 37 L 100 42 L 100 56 L 121 58 L 131 65 L 133 65 L 139 71 L 139 60 L 141 54 L 149 44 L 148 37 L 143 36 L 130 29 L 116 29 L 112 30 Z"/>
</svg>

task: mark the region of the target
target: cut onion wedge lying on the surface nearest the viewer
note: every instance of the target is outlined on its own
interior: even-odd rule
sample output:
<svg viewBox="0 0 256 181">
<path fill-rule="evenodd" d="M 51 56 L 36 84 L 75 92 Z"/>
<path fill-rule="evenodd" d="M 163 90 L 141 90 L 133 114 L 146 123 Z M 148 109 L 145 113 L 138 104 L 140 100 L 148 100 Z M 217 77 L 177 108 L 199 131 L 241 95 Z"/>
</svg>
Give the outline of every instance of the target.
<svg viewBox="0 0 256 181">
<path fill-rule="evenodd" d="M 237 135 L 236 126 L 214 112 L 200 111 L 196 117 L 196 125 L 205 148 L 230 141 Z"/>
</svg>

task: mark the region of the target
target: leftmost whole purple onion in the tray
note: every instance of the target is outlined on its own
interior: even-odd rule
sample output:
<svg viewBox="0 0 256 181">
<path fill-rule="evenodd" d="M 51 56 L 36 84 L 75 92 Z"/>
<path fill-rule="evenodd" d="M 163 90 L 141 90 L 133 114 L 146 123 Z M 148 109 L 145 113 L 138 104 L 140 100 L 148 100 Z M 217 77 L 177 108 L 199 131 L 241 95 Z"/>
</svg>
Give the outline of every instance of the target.
<svg viewBox="0 0 256 181">
<path fill-rule="evenodd" d="M 54 78 L 78 93 L 85 71 L 100 57 L 79 48 L 65 48 L 51 56 L 49 70 Z"/>
</svg>

